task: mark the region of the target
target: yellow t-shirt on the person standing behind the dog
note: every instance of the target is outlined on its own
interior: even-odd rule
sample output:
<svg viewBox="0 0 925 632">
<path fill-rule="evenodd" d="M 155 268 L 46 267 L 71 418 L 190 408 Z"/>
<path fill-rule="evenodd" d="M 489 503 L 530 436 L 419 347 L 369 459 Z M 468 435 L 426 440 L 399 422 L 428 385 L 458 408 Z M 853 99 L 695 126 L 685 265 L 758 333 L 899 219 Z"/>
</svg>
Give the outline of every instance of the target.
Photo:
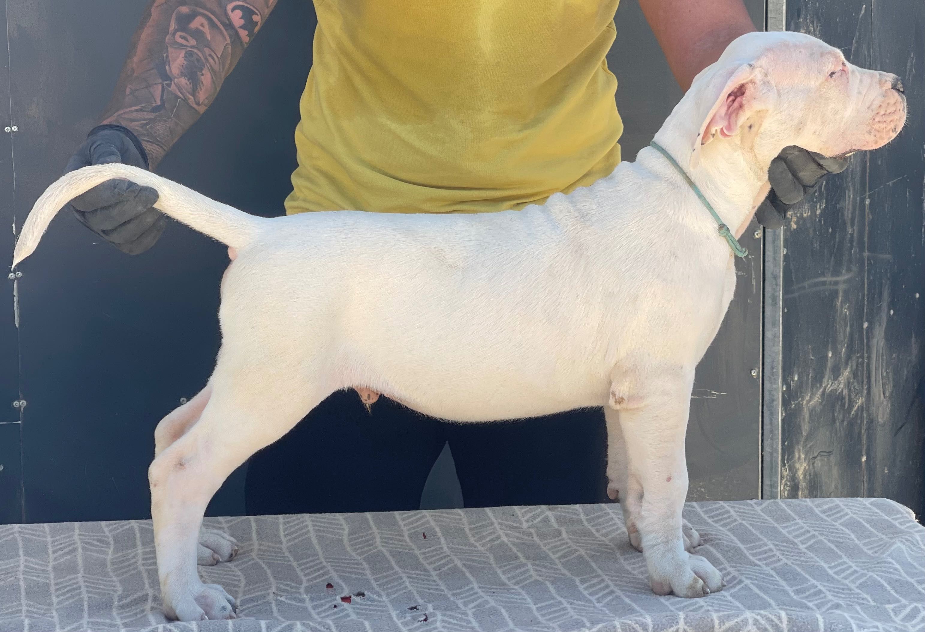
<svg viewBox="0 0 925 632">
<path fill-rule="evenodd" d="M 499 211 L 607 176 L 619 0 L 315 0 L 287 213 Z"/>
</svg>

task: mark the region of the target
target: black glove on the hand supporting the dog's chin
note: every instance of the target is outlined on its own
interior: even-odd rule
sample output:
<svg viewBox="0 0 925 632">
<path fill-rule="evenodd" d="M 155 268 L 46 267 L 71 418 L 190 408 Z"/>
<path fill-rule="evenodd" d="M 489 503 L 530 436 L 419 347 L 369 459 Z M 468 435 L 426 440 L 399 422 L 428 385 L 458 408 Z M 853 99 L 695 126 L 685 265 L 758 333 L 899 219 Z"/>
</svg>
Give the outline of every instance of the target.
<svg viewBox="0 0 925 632">
<path fill-rule="evenodd" d="M 766 229 L 781 228 L 791 206 L 814 192 L 825 176 L 847 167 L 847 157 L 827 158 L 794 145 L 784 147 L 768 169 L 771 192 L 755 212 L 758 223 Z"/>
</svg>

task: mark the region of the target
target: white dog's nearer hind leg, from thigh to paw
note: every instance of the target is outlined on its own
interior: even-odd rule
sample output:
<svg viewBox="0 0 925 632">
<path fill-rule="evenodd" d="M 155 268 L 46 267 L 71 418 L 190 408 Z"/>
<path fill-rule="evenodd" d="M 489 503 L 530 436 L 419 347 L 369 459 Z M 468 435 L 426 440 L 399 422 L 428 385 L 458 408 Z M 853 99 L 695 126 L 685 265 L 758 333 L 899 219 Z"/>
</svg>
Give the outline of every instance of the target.
<svg viewBox="0 0 925 632">
<path fill-rule="evenodd" d="M 164 610 L 181 621 L 235 618 L 227 593 L 204 585 L 196 571 L 206 504 L 236 467 L 279 439 L 328 394 L 314 392 L 302 367 L 278 355 L 244 360 L 235 353 L 233 361 L 230 355 L 226 344 L 199 421 L 160 452 L 149 470 Z"/>
</svg>

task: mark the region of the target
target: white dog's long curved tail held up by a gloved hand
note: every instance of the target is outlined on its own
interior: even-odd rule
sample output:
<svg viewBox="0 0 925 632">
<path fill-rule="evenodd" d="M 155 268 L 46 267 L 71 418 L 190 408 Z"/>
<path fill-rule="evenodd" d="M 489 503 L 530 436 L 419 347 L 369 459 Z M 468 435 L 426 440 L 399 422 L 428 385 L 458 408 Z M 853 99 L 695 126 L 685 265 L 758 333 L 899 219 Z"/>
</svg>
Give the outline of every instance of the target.
<svg viewBox="0 0 925 632">
<path fill-rule="evenodd" d="M 57 212 L 70 200 L 106 180 L 122 178 L 157 191 L 154 207 L 169 217 L 199 230 L 219 242 L 235 248 L 247 245 L 267 221 L 248 215 L 237 208 L 211 200 L 182 184 L 166 180 L 150 171 L 129 165 L 93 165 L 61 176 L 32 206 L 29 217 L 19 231 L 13 266 L 32 254 Z"/>
</svg>

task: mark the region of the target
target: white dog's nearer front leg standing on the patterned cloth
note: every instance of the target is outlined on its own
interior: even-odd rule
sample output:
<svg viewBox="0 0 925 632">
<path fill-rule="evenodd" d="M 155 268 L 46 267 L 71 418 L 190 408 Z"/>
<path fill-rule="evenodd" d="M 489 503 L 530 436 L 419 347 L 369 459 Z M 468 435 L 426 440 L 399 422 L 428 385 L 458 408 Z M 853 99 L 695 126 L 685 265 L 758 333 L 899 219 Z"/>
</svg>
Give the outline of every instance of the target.
<svg viewBox="0 0 925 632">
<path fill-rule="evenodd" d="M 679 375 L 666 381 L 662 374 L 658 383 L 640 385 L 646 390 L 642 405 L 608 411 L 609 435 L 611 427 L 619 429 L 625 443 L 627 489 L 620 491 L 630 537 L 635 525 L 634 545 L 642 546 L 652 590 L 679 597 L 722 589 L 719 571 L 685 551 L 681 512 L 687 495 L 685 431 L 692 379 Z"/>
</svg>

